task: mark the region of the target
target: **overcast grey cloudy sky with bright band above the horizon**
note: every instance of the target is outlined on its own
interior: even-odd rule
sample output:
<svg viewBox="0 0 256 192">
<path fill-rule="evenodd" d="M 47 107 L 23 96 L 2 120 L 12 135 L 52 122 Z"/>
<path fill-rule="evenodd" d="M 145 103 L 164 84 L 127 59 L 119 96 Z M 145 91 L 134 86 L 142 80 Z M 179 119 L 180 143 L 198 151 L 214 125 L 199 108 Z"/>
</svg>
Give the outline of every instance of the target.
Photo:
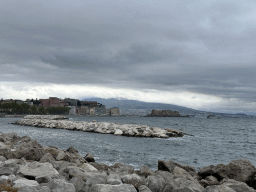
<svg viewBox="0 0 256 192">
<path fill-rule="evenodd" d="M 1 0 L 0 97 L 256 115 L 254 0 Z"/>
</svg>

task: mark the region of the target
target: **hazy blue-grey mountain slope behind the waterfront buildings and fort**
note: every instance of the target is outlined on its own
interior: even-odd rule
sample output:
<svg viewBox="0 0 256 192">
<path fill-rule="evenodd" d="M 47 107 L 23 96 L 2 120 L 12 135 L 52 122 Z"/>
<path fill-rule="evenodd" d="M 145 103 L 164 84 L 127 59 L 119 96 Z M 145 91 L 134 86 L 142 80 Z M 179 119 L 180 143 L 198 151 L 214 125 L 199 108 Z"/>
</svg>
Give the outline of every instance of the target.
<svg viewBox="0 0 256 192">
<path fill-rule="evenodd" d="M 122 115 L 147 115 L 151 113 L 152 109 L 160 110 L 172 110 L 178 111 L 181 115 L 196 115 L 202 114 L 205 112 L 190 109 L 187 107 L 181 107 L 178 105 L 172 104 L 163 104 L 163 103 L 149 103 L 136 100 L 126 100 L 126 99 L 103 99 L 103 98 L 89 98 L 85 99 L 87 101 L 97 101 L 103 105 L 106 105 L 107 108 L 118 107 Z"/>
</svg>

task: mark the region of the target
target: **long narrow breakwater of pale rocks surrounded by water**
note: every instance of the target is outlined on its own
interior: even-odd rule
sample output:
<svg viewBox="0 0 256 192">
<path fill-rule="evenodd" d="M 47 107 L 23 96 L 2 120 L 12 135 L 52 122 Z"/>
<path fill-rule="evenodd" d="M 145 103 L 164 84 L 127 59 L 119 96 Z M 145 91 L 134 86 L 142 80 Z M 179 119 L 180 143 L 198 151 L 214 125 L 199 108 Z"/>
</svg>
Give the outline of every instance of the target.
<svg viewBox="0 0 256 192">
<path fill-rule="evenodd" d="M 175 129 L 162 129 L 159 127 L 150 127 L 146 125 L 134 124 L 116 124 L 109 122 L 85 122 L 68 121 L 64 116 L 59 115 L 27 115 L 23 119 L 15 122 L 18 125 L 45 127 L 55 129 L 68 129 L 85 132 L 95 132 L 102 134 L 114 134 L 132 137 L 182 137 L 188 135 L 183 131 Z"/>
</svg>

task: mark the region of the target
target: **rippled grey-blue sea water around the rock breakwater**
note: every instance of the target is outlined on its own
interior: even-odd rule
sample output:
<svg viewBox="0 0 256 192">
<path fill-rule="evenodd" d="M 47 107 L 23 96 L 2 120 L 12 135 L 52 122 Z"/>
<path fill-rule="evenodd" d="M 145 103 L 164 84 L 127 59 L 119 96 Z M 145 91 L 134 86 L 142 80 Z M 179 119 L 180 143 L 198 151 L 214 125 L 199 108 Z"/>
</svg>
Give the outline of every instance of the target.
<svg viewBox="0 0 256 192">
<path fill-rule="evenodd" d="M 174 160 L 200 169 L 246 158 L 256 165 L 256 119 L 207 119 L 175 117 L 70 117 L 73 121 L 105 121 L 174 128 L 194 136 L 182 138 L 136 138 L 108 134 L 35 128 L 9 124 L 15 118 L 0 118 L 0 131 L 28 135 L 44 146 L 76 148 L 83 156 L 94 155 L 97 162 L 146 165 L 157 169 L 158 160 Z"/>
</svg>

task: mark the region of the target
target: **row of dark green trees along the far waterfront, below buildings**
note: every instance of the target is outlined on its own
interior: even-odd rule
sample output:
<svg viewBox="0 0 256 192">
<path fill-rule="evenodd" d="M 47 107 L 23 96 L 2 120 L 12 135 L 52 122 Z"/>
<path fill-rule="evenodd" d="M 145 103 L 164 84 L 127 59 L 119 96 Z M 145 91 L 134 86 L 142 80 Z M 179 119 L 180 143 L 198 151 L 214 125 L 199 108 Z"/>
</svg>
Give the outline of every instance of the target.
<svg viewBox="0 0 256 192">
<path fill-rule="evenodd" d="M 0 103 L 0 113 L 4 114 L 68 114 L 68 107 L 47 107 L 43 106 L 29 106 L 26 103 L 18 104 L 15 102 L 12 103 Z"/>
</svg>

